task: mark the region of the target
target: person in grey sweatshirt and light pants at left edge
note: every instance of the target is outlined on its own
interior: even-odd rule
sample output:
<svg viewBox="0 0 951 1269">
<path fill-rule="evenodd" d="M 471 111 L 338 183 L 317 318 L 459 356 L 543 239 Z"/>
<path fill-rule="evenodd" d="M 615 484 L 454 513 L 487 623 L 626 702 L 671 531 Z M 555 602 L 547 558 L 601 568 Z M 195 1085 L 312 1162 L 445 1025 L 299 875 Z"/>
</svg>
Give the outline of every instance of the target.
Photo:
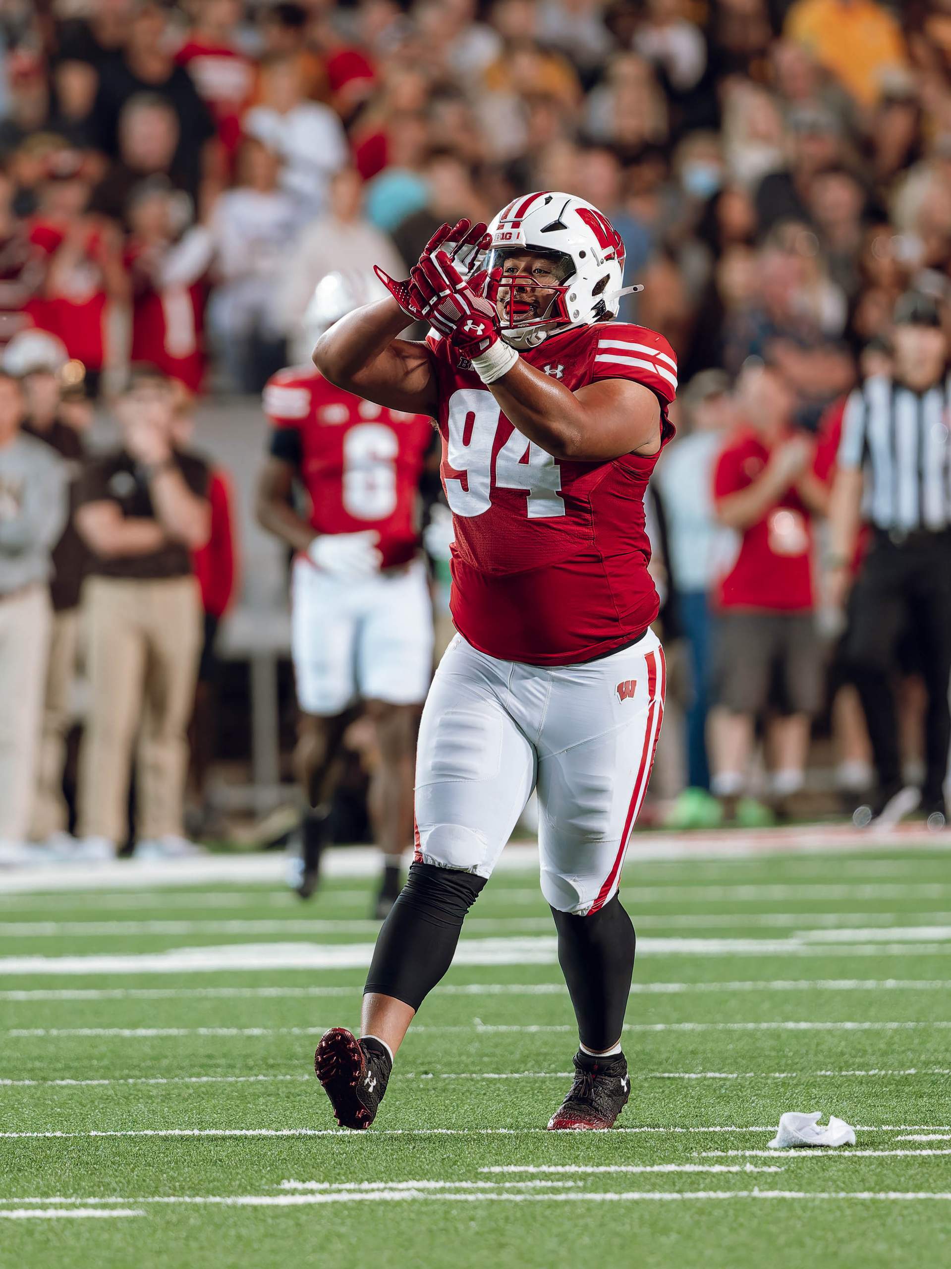
<svg viewBox="0 0 951 1269">
<path fill-rule="evenodd" d="M 24 400 L 0 371 L 0 863 L 25 854 L 49 647 L 49 552 L 66 520 L 66 471 L 20 433 Z"/>
</svg>

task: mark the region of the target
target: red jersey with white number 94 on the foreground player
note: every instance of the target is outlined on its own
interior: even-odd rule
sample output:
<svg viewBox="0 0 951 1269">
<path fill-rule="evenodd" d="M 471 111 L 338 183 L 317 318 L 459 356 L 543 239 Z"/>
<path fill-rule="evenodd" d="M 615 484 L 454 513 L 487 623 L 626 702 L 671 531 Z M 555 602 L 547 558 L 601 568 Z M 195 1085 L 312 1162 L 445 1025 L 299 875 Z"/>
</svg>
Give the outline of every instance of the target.
<svg viewBox="0 0 951 1269">
<path fill-rule="evenodd" d="M 644 491 L 657 454 L 560 462 L 529 442 L 468 363 L 430 335 L 443 483 L 453 510 L 453 594 L 460 634 L 506 661 L 571 665 L 630 643 L 657 617 L 647 571 Z M 661 400 L 661 449 L 677 362 L 667 340 L 626 322 L 549 335 L 521 354 L 572 391 L 634 379 Z"/>
</svg>

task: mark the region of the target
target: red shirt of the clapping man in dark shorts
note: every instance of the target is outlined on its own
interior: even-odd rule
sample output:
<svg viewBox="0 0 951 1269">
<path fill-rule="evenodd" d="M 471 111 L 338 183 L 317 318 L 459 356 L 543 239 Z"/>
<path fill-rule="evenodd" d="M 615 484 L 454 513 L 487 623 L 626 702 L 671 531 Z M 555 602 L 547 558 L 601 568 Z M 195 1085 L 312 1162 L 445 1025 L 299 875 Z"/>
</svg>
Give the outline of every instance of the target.
<svg viewBox="0 0 951 1269">
<path fill-rule="evenodd" d="M 735 431 L 716 461 L 714 499 L 747 489 L 762 475 L 768 458 L 768 448 L 752 428 Z M 827 480 L 829 466 L 828 450 L 817 450 L 815 475 Z M 733 567 L 720 579 L 718 599 L 720 608 L 812 610 L 812 515 L 792 486 L 743 532 Z"/>
</svg>

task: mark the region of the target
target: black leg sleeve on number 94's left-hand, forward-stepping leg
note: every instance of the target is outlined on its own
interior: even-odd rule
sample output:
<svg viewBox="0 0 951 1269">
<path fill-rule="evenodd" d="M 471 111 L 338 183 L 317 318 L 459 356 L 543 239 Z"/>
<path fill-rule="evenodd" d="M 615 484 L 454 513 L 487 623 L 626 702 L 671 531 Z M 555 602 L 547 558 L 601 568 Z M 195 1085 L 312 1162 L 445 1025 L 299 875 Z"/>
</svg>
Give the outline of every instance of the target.
<svg viewBox="0 0 951 1269">
<path fill-rule="evenodd" d="M 413 863 L 379 931 L 364 995 L 393 996 L 418 1009 L 455 954 L 463 920 L 484 877 Z"/>
</svg>

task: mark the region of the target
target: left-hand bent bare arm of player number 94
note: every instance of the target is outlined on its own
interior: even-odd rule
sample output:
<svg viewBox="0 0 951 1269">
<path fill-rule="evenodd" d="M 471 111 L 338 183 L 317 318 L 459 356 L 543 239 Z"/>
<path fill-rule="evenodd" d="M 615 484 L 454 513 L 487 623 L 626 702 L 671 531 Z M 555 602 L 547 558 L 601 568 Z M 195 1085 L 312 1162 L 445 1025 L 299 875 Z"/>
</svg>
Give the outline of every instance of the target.
<svg viewBox="0 0 951 1269">
<path fill-rule="evenodd" d="M 425 344 L 397 336 L 406 312 L 396 299 L 364 305 L 335 322 L 313 350 L 313 364 L 340 388 L 377 405 L 434 414 L 436 391 Z"/>
</svg>

